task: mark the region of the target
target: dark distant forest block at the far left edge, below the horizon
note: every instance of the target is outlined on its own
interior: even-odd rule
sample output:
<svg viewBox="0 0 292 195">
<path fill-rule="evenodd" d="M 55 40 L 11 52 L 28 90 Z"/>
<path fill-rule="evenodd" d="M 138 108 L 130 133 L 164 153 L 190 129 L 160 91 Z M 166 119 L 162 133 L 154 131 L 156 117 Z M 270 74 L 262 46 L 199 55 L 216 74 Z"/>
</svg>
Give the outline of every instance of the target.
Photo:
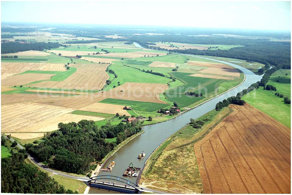
<svg viewBox="0 0 292 195">
<path fill-rule="evenodd" d="M 58 48 L 62 45 L 59 43 L 41 43 L 41 42 L 33 42 L 33 43 L 19 43 L 19 42 L 5 42 L 1 43 L 1 54 L 6 53 L 16 53 L 23 52 L 29 50 L 49 50 L 51 48 Z"/>
</svg>

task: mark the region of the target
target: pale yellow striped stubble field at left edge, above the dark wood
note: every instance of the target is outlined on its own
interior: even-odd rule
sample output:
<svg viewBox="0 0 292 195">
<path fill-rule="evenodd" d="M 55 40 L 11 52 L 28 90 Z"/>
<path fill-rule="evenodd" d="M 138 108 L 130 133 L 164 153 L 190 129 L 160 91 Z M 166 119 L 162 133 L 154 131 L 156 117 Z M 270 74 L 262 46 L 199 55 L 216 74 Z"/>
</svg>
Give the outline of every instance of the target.
<svg viewBox="0 0 292 195">
<path fill-rule="evenodd" d="M 74 110 L 38 103 L 14 103 L 1 106 L 2 132 L 32 132 L 31 127 L 48 118 L 62 116 Z M 28 128 L 28 129 L 27 129 Z M 26 130 L 25 130 L 26 129 Z M 39 130 L 38 130 L 39 131 Z"/>
</svg>

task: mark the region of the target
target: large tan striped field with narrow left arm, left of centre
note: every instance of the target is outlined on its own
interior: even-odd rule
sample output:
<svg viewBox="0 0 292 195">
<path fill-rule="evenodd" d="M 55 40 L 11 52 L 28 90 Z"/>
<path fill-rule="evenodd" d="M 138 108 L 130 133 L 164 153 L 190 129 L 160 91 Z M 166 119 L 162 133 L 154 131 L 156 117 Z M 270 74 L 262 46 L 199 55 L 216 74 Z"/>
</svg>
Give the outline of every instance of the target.
<svg viewBox="0 0 292 195">
<path fill-rule="evenodd" d="M 108 64 L 72 64 L 77 71 L 63 81 L 44 81 L 30 87 L 58 89 L 92 89 L 98 90 L 105 85 L 109 75 L 105 72 Z"/>
</svg>

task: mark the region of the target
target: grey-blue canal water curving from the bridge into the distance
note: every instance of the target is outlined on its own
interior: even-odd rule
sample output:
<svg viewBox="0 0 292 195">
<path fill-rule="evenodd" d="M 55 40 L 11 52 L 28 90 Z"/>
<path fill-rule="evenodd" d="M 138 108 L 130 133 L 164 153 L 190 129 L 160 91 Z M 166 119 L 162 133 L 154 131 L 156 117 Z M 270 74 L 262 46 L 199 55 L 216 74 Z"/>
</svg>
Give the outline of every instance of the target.
<svg viewBox="0 0 292 195">
<path fill-rule="evenodd" d="M 191 55 L 192 56 L 192 55 Z M 195 56 L 197 57 L 197 56 Z M 205 57 L 201 57 L 204 59 L 209 59 Z M 213 59 L 209 59 L 213 60 Z M 238 68 L 241 70 L 245 76 L 246 79 L 244 82 L 230 90 L 229 92 L 222 94 L 218 97 L 215 97 L 214 99 L 201 104 L 200 106 L 197 106 L 196 108 L 176 117 L 169 121 L 147 125 L 142 127 L 142 129 L 145 131 L 145 133 L 141 134 L 140 136 L 136 137 L 135 139 L 131 140 L 127 145 L 122 147 L 118 152 L 116 152 L 105 164 L 105 166 L 108 166 L 108 164 L 111 161 L 115 161 L 116 165 L 112 169 L 111 172 L 104 172 L 100 171 L 99 175 L 115 175 L 123 177 L 123 173 L 128 168 L 129 164 L 133 162 L 135 167 L 143 168 L 144 163 L 147 160 L 147 158 L 152 154 L 152 152 L 164 141 L 166 140 L 171 134 L 178 131 L 180 128 L 185 126 L 190 122 L 190 118 L 198 118 L 207 112 L 213 110 L 215 108 L 216 103 L 219 101 L 223 101 L 223 99 L 227 99 L 230 96 L 236 96 L 238 92 L 241 92 L 243 89 L 246 89 L 251 84 L 259 81 L 262 76 L 255 75 L 250 70 L 243 68 L 241 66 L 238 66 L 236 64 L 232 64 L 229 62 L 223 62 L 220 60 L 213 60 L 217 61 L 223 64 L 227 64 L 230 66 L 233 66 L 235 68 Z M 144 159 L 138 159 L 138 154 L 141 153 L 141 151 L 144 151 L 146 154 L 146 157 Z M 131 182 L 136 182 L 137 178 L 135 177 L 124 177 L 127 180 L 130 180 Z M 98 194 L 98 193 L 104 193 L 103 191 L 100 191 L 98 189 L 91 188 L 89 190 L 90 194 Z"/>
</svg>

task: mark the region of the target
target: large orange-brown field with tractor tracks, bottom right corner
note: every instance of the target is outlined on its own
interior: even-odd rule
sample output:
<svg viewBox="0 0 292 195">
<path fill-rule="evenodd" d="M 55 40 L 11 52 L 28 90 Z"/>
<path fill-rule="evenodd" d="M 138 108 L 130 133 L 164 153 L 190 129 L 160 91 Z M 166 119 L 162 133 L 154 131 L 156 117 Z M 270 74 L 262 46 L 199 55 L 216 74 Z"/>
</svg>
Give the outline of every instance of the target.
<svg viewBox="0 0 292 195">
<path fill-rule="evenodd" d="M 194 145 L 204 192 L 290 194 L 291 130 L 248 104 L 230 106 Z"/>
</svg>

